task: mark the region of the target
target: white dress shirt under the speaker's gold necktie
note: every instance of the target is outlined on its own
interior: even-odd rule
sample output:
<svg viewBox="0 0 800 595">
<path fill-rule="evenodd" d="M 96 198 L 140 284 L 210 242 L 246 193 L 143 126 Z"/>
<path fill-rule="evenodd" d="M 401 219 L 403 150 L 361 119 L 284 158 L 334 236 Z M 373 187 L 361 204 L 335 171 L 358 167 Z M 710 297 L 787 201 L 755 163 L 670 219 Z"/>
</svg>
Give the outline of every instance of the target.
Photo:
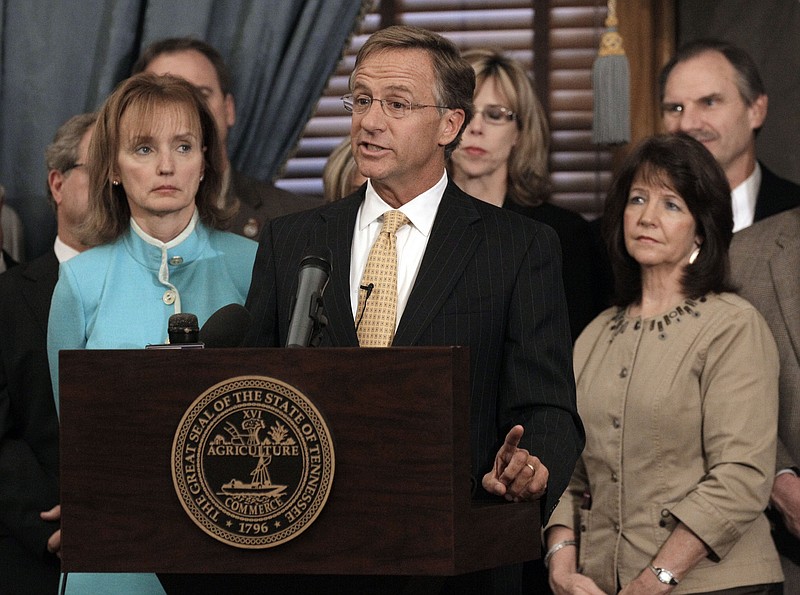
<svg viewBox="0 0 800 595">
<path fill-rule="evenodd" d="M 439 181 L 419 196 L 414 197 L 402 207 L 400 211 L 408 217 L 410 223 L 397 230 L 397 318 L 395 329 L 403 316 L 403 310 L 411 295 L 414 281 L 417 278 L 422 256 L 428 246 L 433 221 L 439 210 L 445 188 L 447 188 L 447 173 L 443 173 Z M 355 320 L 358 309 L 358 296 L 361 291 L 361 277 L 367 258 L 372 249 L 372 244 L 378 237 L 383 225 L 383 214 L 391 211 L 392 207 L 378 196 L 372 187 L 372 182 L 367 181 L 367 195 L 356 216 L 356 229 L 353 233 L 353 245 L 350 250 L 350 305 L 353 309 Z"/>
</svg>

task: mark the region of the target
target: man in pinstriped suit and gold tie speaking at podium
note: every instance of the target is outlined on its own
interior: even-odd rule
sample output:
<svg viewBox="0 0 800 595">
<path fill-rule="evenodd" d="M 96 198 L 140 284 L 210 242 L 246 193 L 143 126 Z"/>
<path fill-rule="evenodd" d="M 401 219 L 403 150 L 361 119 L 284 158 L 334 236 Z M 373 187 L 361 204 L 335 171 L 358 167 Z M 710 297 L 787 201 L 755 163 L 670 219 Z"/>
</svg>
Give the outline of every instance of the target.
<svg viewBox="0 0 800 595">
<path fill-rule="evenodd" d="M 370 37 L 342 98 L 367 182 L 265 227 L 245 343 L 286 344 L 298 265 L 309 248 L 329 248 L 320 346 L 469 347 L 475 497 L 539 500 L 546 519 L 584 444 L 561 254 L 550 228 L 448 179 L 474 86 L 439 35 L 395 26 Z M 519 568 L 477 574 L 445 592 L 521 592 Z"/>
</svg>

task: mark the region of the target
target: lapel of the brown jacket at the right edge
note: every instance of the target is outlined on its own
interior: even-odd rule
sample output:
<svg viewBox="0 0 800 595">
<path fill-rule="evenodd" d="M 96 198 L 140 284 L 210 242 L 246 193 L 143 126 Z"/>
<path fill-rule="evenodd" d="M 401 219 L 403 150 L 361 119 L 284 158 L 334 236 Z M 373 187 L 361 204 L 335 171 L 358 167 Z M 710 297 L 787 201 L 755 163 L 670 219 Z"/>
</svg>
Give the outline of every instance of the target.
<svg viewBox="0 0 800 595">
<path fill-rule="evenodd" d="M 796 219 L 792 219 L 795 223 Z M 794 227 L 794 226 L 793 226 Z M 776 239 L 777 248 L 769 261 L 772 283 L 784 324 L 800 360 L 800 238 L 797 230 L 784 229 Z"/>
</svg>

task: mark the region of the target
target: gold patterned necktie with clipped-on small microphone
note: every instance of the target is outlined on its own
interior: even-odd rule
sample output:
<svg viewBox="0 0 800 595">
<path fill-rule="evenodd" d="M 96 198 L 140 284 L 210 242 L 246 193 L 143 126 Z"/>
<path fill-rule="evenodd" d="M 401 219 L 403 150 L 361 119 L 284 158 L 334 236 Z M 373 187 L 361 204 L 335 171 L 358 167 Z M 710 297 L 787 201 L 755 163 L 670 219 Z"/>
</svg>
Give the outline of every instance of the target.
<svg viewBox="0 0 800 595">
<path fill-rule="evenodd" d="M 400 211 L 383 214 L 383 226 L 361 277 L 356 320 L 361 347 L 389 347 L 397 317 L 397 230 L 408 223 Z M 371 287 L 371 289 L 364 289 Z"/>
</svg>

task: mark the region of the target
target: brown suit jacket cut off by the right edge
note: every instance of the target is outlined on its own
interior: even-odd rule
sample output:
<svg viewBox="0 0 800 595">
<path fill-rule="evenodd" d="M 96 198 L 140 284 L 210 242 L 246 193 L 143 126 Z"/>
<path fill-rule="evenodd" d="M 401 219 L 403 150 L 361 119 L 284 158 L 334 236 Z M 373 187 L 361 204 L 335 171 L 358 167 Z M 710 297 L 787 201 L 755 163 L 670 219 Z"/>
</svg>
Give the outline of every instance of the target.
<svg viewBox="0 0 800 595">
<path fill-rule="evenodd" d="M 777 468 L 800 466 L 800 208 L 734 234 L 731 271 L 767 320 L 780 354 Z"/>
</svg>

